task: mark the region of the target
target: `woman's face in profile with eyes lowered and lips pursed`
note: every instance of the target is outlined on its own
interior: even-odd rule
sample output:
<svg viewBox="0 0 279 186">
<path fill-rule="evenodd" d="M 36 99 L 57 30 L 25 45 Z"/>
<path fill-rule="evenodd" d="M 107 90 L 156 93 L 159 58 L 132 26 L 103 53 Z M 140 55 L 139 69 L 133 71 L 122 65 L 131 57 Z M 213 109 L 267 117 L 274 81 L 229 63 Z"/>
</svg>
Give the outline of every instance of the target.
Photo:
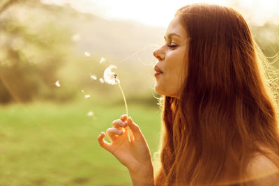
<svg viewBox="0 0 279 186">
<path fill-rule="evenodd" d="M 179 89 L 186 78 L 186 31 L 176 16 L 169 23 L 165 35 L 165 45 L 153 52 L 158 59 L 155 65 L 155 90 L 161 95 L 178 97 Z"/>
</svg>

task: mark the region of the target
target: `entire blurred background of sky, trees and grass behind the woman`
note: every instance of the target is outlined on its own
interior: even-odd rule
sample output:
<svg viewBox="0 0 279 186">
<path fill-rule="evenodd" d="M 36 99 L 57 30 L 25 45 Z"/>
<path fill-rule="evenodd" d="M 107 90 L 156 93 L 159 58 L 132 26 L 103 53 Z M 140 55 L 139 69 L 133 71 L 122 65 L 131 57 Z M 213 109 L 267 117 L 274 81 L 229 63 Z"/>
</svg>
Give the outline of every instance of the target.
<svg viewBox="0 0 279 186">
<path fill-rule="evenodd" d="M 152 53 L 175 11 L 196 2 L 242 13 L 279 68 L 276 0 L 0 0 L 0 185 L 132 185 L 96 140 L 125 114 L 119 88 L 98 79 L 107 65 L 118 67 L 129 114 L 153 155 L 161 115 Z"/>
</svg>

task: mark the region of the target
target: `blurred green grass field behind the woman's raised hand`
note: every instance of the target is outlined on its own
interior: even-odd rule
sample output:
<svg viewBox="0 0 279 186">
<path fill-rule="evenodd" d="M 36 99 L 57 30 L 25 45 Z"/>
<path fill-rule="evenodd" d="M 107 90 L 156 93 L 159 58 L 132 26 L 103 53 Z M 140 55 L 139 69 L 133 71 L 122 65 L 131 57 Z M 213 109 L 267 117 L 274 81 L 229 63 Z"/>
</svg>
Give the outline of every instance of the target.
<svg viewBox="0 0 279 186">
<path fill-rule="evenodd" d="M 128 107 L 153 154 L 160 135 L 158 107 Z M 87 116 L 89 111 L 94 116 Z M 0 107 L 0 185 L 132 185 L 128 169 L 97 141 L 121 114 L 123 104 L 85 101 Z"/>
</svg>

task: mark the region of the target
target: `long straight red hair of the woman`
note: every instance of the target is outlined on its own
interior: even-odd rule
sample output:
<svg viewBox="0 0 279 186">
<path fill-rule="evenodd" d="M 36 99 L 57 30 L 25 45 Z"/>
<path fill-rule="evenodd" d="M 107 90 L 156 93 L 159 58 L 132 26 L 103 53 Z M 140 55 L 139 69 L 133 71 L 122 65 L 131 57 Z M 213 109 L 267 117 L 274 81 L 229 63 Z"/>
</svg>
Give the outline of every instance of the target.
<svg viewBox="0 0 279 186">
<path fill-rule="evenodd" d="M 164 97 L 156 185 L 241 185 L 256 153 L 279 167 L 276 107 L 246 21 L 204 3 L 176 16 L 190 38 L 187 77 L 179 99 Z"/>
</svg>

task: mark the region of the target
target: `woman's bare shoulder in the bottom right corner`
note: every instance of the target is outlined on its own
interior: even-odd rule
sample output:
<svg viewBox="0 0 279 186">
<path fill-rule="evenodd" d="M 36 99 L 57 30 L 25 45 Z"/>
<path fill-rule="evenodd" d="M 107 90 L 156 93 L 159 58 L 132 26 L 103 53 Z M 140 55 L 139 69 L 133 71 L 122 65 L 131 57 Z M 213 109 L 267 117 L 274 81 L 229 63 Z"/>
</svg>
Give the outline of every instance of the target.
<svg viewBox="0 0 279 186">
<path fill-rule="evenodd" d="M 279 185 L 278 166 L 262 153 L 258 153 L 250 160 L 246 171 L 248 179 L 252 180 L 251 185 Z"/>
</svg>

